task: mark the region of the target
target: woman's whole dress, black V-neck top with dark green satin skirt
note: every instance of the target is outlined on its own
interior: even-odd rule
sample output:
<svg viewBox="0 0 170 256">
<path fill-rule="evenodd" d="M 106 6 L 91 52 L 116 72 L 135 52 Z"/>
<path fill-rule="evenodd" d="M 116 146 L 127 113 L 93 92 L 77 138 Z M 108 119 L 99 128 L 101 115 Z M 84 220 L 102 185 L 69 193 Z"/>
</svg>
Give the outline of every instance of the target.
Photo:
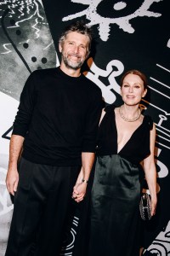
<svg viewBox="0 0 170 256">
<path fill-rule="evenodd" d="M 139 255 L 139 162 L 150 154 L 150 129 L 143 123 L 117 152 L 114 106 L 105 108 L 99 126 L 98 157 L 92 189 L 89 256 Z"/>
</svg>

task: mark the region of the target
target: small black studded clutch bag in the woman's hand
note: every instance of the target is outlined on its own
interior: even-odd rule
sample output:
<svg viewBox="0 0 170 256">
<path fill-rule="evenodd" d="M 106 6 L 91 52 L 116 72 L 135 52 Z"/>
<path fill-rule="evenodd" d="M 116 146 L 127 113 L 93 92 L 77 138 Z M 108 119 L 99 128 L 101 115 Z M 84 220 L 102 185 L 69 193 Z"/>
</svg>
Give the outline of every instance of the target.
<svg viewBox="0 0 170 256">
<path fill-rule="evenodd" d="M 150 195 L 142 193 L 139 203 L 140 216 L 143 220 L 150 220 L 151 218 L 151 201 Z"/>
</svg>

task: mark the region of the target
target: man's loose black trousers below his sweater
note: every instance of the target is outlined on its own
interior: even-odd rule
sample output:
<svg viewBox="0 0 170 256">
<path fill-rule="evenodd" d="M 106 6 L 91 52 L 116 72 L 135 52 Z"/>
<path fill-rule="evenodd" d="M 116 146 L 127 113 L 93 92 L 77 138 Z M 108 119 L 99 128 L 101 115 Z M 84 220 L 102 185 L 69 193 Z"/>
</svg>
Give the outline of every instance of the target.
<svg viewBox="0 0 170 256">
<path fill-rule="evenodd" d="M 81 166 L 47 166 L 21 158 L 5 256 L 58 256 Z"/>
</svg>

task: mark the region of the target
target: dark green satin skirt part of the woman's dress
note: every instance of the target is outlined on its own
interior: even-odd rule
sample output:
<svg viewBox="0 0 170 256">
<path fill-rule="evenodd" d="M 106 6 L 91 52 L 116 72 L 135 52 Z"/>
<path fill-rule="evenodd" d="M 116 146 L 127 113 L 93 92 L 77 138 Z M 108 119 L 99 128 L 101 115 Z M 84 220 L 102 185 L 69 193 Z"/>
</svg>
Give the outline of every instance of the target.
<svg viewBox="0 0 170 256">
<path fill-rule="evenodd" d="M 119 154 L 98 157 L 89 256 L 139 256 L 139 172 Z"/>
</svg>

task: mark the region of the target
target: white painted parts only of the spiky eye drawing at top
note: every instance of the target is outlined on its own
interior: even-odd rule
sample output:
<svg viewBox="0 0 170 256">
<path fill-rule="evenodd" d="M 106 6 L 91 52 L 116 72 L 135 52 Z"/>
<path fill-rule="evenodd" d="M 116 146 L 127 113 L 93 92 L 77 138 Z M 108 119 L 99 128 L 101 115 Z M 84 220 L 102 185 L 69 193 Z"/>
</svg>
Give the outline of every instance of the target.
<svg viewBox="0 0 170 256">
<path fill-rule="evenodd" d="M 133 20 L 134 18 L 137 18 L 137 17 L 144 17 L 144 16 L 156 17 L 156 18 L 161 16 L 161 14 L 150 11 L 149 9 L 152 3 L 158 3 L 162 0 L 144 0 L 144 3 L 142 3 L 139 9 L 134 11 L 133 14 L 126 15 L 124 17 L 118 17 L 118 18 L 106 18 L 97 13 L 97 8 L 99 6 L 99 3 L 101 3 L 102 1 L 103 0 L 71 0 L 72 3 L 82 3 L 84 5 L 88 5 L 88 8 L 81 12 L 78 12 L 77 14 L 65 16 L 62 20 L 63 21 L 73 20 L 75 18 L 86 15 L 86 18 L 88 20 L 91 20 L 88 23 L 88 26 L 98 25 L 99 37 L 101 38 L 101 40 L 107 41 L 110 35 L 111 24 L 116 24 L 124 32 L 133 33 L 134 28 L 130 24 L 130 20 Z M 115 11 L 124 9 L 126 7 L 127 7 L 127 3 L 125 1 L 120 1 L 113 5 L 113 9 Z"/>
</svg>

